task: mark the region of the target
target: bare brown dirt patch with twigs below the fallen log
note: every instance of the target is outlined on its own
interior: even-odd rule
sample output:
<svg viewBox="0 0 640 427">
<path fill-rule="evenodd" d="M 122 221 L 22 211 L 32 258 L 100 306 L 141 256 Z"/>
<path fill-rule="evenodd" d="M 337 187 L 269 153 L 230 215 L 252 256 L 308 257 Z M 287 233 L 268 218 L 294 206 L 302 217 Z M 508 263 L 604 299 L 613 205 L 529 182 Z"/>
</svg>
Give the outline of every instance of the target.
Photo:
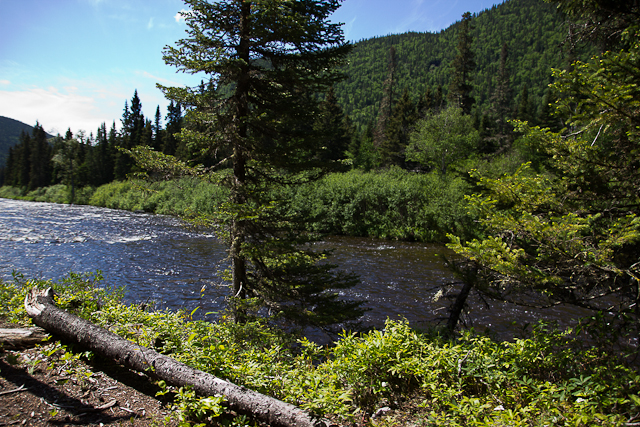
<svg viewBox="0 0 640 427">
<path fill-rule="evenodd" d="M 57 347 L 0 346 L 0 426 L 178 424 L 145 375 L 97 358 L 78 359 L 64 349 L 49 354 Z"/>
</svg>

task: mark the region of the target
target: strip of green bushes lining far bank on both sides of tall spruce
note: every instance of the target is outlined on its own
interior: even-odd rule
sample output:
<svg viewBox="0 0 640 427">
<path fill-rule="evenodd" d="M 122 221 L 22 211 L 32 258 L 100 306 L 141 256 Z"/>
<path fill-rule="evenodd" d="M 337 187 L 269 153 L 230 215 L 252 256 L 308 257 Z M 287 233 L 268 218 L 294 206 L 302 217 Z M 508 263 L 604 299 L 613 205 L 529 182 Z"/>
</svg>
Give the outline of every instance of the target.
<svg viewBox="0 0 640 427">
<path fill-rule="evenodd" d="M 437 173 L 354 170 L 296 189 L 280 189 L 273 198 L 284 201 L 283 209 L 310 218 L 309 231 L 442 243 L 448 241 L 447 233 L 462 237 L 475 233 L 475 223 L 466 212 L 467 192 L 462 179 Z M 69 203 L 70 194 L 63 185 L 29 193 L 0 188 L 0 197 L 41 202 Z M 193 178 L 154 183 L 130 180 L 76 189 L 74 203 L 206 219 L 227 200 L 227 194 L 218 185 Z"/>
</svg>

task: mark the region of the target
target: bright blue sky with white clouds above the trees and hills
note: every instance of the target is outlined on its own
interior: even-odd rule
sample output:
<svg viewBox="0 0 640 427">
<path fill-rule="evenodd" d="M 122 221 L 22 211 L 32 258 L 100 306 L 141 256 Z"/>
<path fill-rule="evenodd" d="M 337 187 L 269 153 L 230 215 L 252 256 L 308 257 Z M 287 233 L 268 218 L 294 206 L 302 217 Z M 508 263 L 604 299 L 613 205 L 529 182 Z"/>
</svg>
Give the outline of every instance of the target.
<svg viewBox="0 0 640 427">
<path fill-rule="evenodd" d="M 501 0 L 345 0 L 333 20 L 348 40 L 437 32 Z M 120 118 L 134 90 L 146 117 L 167 101 L 155 87 L 196 84 L 162 61 L 185 36 L 181 0 L 0 0 L 0 116 L 55 134 L 95 133 Z"/>
</svg>

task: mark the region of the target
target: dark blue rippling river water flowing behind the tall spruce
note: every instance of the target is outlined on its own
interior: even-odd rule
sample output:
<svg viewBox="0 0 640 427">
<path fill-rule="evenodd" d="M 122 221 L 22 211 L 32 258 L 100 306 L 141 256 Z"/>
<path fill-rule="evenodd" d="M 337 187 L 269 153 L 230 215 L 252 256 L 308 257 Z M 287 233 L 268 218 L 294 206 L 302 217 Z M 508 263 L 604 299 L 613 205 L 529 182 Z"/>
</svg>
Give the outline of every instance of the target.
<svg viewBox="0 0 640 427">
<path fill-rule="evenodd" d="M 446 318 L 446 300 L 436 292 L 455 282 L 443 246 L 376 239 L 331 237 L 317 243 L 334 250 L 330 261 L 357 273 L 361 284 L 345 297 L 367 301 L 365 324 L 404 317 L 420 327 Z M 92 206 L 0 199 L 0 279 L 18 271 L 27 278 L 58 280 L 70 271 L 101 270 L 105 286 L 124 286 L 130 303 L 156 308 L 196 307 L 212 319 L 225 306 L 229 287 L 225 247 L 212 233 L 196 232 L 179 219 Z M 578 315 L 567 308 L 539 312 L 506 304 L 485 305 L 471 296 L 466 318 L 508 337 L 538 319 Z"/>
</svg>

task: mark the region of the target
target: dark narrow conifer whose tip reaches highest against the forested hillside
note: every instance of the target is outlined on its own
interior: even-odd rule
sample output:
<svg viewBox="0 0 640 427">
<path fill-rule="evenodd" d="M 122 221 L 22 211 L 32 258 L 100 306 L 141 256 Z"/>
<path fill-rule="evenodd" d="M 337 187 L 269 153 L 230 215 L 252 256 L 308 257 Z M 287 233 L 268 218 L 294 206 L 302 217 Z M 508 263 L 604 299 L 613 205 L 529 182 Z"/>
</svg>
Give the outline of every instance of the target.
<svg viewBox="0 0 640 427">
<path fill-rule="evenodd" d="M 471 96 L 473 86 L 472 73 L 476 68 L 475 54 L 471 50 L 473 38 L 471 36 L 471 13 L 462 15 L 458 30 L 458 54 L 453 60 L 453 77 L 449 84 L 449 101 L 462 108 L 464 114 L 471 113 L 475 100 Z"/>
</svg>

